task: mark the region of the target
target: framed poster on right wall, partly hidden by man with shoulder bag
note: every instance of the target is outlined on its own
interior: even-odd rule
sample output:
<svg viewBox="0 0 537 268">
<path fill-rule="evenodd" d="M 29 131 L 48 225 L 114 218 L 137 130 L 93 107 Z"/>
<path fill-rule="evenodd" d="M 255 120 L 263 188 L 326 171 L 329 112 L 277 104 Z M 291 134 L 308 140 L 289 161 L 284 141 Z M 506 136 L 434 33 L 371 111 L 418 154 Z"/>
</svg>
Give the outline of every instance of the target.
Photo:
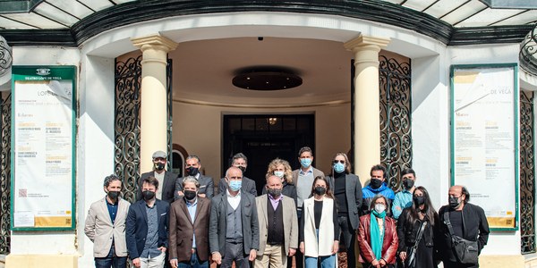
<svg viewBox="0 0 537 268">
<path fill-rule="evenodd" d="M 516 81 L 516 63 L 451 66 L 451 184 L 493 230 L 518 229 Z"/>
</svg>

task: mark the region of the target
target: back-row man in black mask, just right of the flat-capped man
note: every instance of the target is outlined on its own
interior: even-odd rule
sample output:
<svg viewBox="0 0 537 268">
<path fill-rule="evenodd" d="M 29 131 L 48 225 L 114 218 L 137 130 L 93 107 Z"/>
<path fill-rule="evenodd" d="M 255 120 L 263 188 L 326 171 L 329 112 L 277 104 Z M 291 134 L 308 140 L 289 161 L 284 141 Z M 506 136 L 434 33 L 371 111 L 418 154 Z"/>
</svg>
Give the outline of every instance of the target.
<svg viewBox="0 0 537 268">
<path fill-rule="evenodd" d="M 201 170 L 201 161 L 200 157 L 197 155 L 188 155 L 186 157 L 186 160 L 184 161 L 185 166 L 185 177 L 192 176 L 198 182 L 200 182 L 200 190 L 198 191 L 198 197 L 206 197 L 206 198 L 212 198 L 215 193 L 215 182 L 212 180 L 211 177 L 203 176 L 200 173 Z M 184 178 L 184 177 L 183 177 Z M 174 199 L 177 200 L 179 198 L 183 198 L 183 178 L 179 178 L 175 180 L 175 194 Z"/>
</svg>

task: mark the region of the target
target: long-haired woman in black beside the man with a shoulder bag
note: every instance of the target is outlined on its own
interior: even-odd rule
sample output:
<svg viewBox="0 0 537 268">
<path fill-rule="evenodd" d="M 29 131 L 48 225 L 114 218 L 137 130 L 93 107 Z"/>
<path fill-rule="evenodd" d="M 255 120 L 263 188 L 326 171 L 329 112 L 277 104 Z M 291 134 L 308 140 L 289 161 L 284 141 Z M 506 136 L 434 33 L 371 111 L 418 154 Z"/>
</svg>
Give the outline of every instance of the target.
<svg viewBox="0 0 537 268">
<path fill-rule="evenodd" d="M 438 267 L 434 239 L 439 214 L 430 203 L 429 192 L 419 186 L 413 190 L 413 202 L 399 216 L 399 258 L 409 268 Z"/>
</svg>

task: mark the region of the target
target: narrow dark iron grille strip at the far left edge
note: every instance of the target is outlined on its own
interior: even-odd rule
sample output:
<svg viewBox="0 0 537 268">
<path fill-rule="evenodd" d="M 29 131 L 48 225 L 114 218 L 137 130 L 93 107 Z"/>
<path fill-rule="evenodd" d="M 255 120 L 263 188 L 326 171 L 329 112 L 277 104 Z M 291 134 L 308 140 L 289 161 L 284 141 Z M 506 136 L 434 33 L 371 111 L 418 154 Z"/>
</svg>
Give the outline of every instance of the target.
<svg viewBox="0 0 537 268">
<path fill-rule="evenodd" d="M 9 254 L 11 245 L 11 93 L 0 96 L 0 254 Z"/>
</svg>

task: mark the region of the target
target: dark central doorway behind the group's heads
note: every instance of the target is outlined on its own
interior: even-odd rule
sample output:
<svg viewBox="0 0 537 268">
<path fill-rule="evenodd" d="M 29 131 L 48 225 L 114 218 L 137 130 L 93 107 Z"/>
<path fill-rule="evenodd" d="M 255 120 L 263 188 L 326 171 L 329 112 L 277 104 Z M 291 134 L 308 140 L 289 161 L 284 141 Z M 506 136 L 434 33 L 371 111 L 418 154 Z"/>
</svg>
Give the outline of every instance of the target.
<svg viewBox="0 0 537 268">
<path fill-rule="evenodd" d="M 298 168 L 296 154 L 301 147 L 315 152 L 315 116 L 313 114 L 224 115 L 222 174 L 236 153 L 248 157 L 244 175 L 256 181 L 258 194 L 265 185 L 268 163 L 285 159 Z"/>
</svg>

